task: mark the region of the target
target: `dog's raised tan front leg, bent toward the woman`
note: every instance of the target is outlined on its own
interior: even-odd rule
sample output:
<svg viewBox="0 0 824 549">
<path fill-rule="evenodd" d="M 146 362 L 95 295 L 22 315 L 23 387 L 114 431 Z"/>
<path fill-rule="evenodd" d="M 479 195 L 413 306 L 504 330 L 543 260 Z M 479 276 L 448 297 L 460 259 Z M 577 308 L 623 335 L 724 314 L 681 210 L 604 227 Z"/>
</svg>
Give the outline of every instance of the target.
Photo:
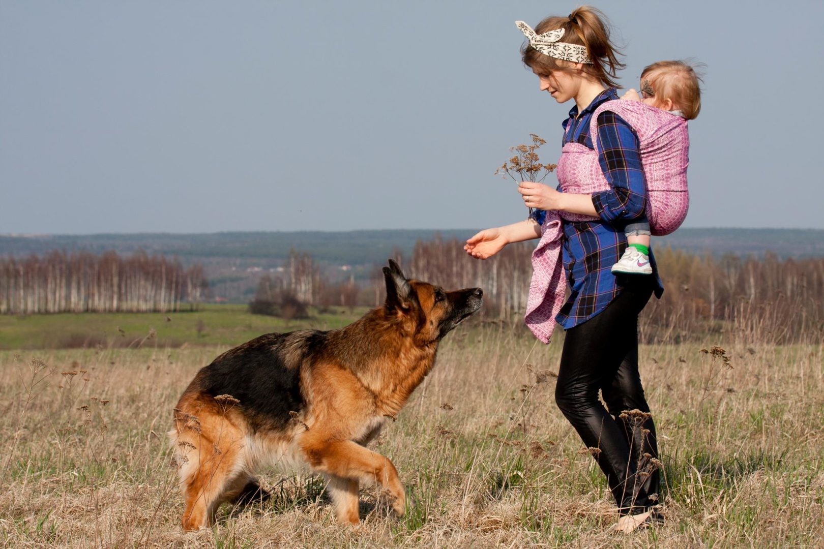
<svg viewBox="0 0 824 549">
<path fill-rule="evenodd" d="M 309 434 L 314 436 L 307 436 Z M 405 514 L 404 486 L 400 483 L 395 465 L 388 458 L 351 440 L 329 440 L 313 434 L 311 430 L 303 436 L 300 444 L 307 462 L 316 471 L 355 482 L 379 482 L 389 492 L 395 514 L 399 517 Z M 355 494 L 357 497 L 357 489 Z M 357 512 L 357 508 L 355 510 Z"/>
</svg>

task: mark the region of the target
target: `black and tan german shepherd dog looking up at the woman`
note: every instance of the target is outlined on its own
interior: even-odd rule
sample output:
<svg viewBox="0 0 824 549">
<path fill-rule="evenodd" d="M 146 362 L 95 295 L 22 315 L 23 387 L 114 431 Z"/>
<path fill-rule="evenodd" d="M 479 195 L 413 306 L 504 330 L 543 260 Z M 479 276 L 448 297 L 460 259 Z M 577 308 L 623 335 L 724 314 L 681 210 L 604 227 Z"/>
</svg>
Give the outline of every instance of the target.
<svg viewBox="0 0 824 549">
<path fill-rule="evenodd" d="M 345 328 L 269 333 L 202 368 L 175 408 L 182 525 L 214 523 L 224 501 L 264 494 L 255 471 L 288 460 L 328 481 L 341 523 L 358 523 L 358 486 L 378 482 L 393 512 L 405 492 L 391 461 L 366 448 L 432 370 L 438 342 L 480 309 L 480 288 L 443 291 L 383 268 L 386 303 Z"/>
</svg>

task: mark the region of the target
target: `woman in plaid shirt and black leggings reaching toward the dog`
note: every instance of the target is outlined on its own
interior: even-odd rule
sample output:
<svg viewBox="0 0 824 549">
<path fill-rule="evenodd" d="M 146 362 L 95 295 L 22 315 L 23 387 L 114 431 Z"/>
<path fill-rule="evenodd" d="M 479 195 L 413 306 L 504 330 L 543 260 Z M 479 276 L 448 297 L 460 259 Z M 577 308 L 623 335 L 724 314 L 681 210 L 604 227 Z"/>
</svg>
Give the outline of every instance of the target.
<svg viewBox="0 0 824 549">
<path fill-rule="evenodd" d="M 644 214 L 646 184 L 639 142 L 628 123 L 611 111 L 598 115 L 598 151 L 592 145 L 592 113 L 618 99 L 616 72 L 623 65 L 611 44 L 603 15 L 579 7 L 569 16 L 550 16 L 527 35 L 522 60 L 559 103 L 574 100 L 564 121 L 559 161 L 561 187 L 586 188 L 587 170 L 597 161 L 609 190 L 562 193 L 543 184 L 518 188 L 536 215 L 513 225 L 482 230 L 466 241 L 467 253 L 485 259 L 511 242 L 541 237 L 545 211 L 561 215 L 564 272 L 571 293 L 555 317 L 564 327 L 564 349 L 555 402 L 606 474 L 620 514 L 616 529 L 631 532 L 662 522 L 658 505 L 658 445 L 638 372 L 638 314 L 661 281 L 655 262 L 651 277 L 616 277 L 610 272 L 626 248 L 624 226 Z M 568 179 L 564 181 L 564 178 Z M 576 220 L 576 221 L 570 221 Z M 585 221 L 577 221 L 585 220 Z M 609 412 L 598 400 L 601 391 Z"/>
</svg>

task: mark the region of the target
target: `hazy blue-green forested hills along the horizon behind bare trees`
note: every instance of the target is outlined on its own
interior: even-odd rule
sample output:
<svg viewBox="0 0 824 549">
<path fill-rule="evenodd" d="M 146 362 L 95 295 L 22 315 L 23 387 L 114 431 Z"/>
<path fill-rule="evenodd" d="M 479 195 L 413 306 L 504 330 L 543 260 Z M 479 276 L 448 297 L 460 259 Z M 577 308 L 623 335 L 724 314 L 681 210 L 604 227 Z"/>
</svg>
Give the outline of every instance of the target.
<svg viewBox="0 0 824 549">
<path fill-rule="evenodd" d="M 260 295 L 264 296 L 262 300 L 269 300 L 272 291 L 285 290 L 301 294 L 302 300 L 317 305 L 372 305 L 380 293 L 380 266 L 386 264 L 386 258 L 402 257 L 408 263 L 416 254 L 420 254 L 416 247 L 422 244 L 437 240 L 461 242 L 474 232 L 475 230 L 357 230 L 202 235 L 0 235 L 0 258 L 6 261 L 13 258 L 20 263 L 30 260 L 32 254 L 43 258 L 55 250 L 64 254 L 96 256 L 114 250 L 121 258 L 135 254 L 141 257 L 162 256 L 166 261 L 179 263 L 183 269 L 203 267 L 201 273 L 208 280 L 208 288 L 202 288 L 204 293 L 199 299 L 249 303 Z M 524 248 L 517 253 L 513 249 L 513 254 L 521 258 L 521 262 L 528 263 L 528 248 L 529 244 L 524 244 Z M 770 265 L 778 265 L 776 268 L 780 271 L 789 272 L 800 264 L 808 265 L 808 260 L 824 258 L 824 230 L 687 228 L 667 237 L 653 239 L 653 248 L 659 260 L 667 252 L 666 257 L 695 258 L 695 261 L 708 265 L 708 268 L 708 262 L 712 262 L 712 272 L 721 272 L 721 265 L 749 266 L 755 264 L 752 263 L 753 260 L 761 263 L 761 260 L 766 259 L 769 259 Z M 303 271 L 311 272 L 311 275 L 302 277 L 300 281 L 293 280 L 290 274 L 296 272 L 297 257 L 305 263 Z M 788 261 L 790 263 L 786 263 Z M 412 263 L 413 268 L 419 265 L 421 263 Z M 475 272 L 476 266 L 471 262 L 457 265 L 467 272 Z M 789 266 L 793 268 L 790 269 Z M 666 263 L 662 264 L 662 270 L 666 267 Z M 528 268 L 528 264 L 518 263 L 518 270 L 525 268 Z M 730 268 L 733 267 L 725 267 L 727 271 Z M 737 272 L 740 268 L 742 267 L 734 267 L 734 270 Z M 709 276 L 710 271 L 705 274 Z M 669 272 L 664 272 L 665 276 L 671 276 Z M 428 271 L 412 272 L 416 276 L 427 273 Z M 672 272 L 672 276 L 680 277 L 681 273 Z M 697 286 L 693 282 L 686 282 L 686 285 L 703 287 L 700 276 L 695 276 L 699 281 Z M 731 276 L 729 274 L 723 280 L 729 281 Z M 263 277 L 269 277 L 269 282 L 265 282 L 261 289 Z M 455 279 L 456 282 L 459 280 Z M 447 280 L 441 283 L 446 284 Z M 716 289 L 713 295 L 717 296 L 716 299 L 709 294 L 704 298 L 705 303 L 713 308 L 709 316 L 715 316 L 720 310 L 717 308 L 720 306 L 718 296 L 721 295 L 721 290 L 718 282 L 714 284 Z M 726 284 L 729 285 L 730 282 Z M 672 284 L 667 286 L 667 299 L 676 293 L 673 287 Z M 709 292 L 709 287 L 707 291 Z M 308 294 L 311 294 L 311 298 L 307 299 Z M 371 297 L 367 297 L 367 294 Z M 742 295 L 747 295 L 747 292 Z M 184 301 L 188 299 L 183 298 Z M 520 299 L 522 297 L 517 295 L 506 298 L 513 302 Z M 157 306 L 166 306 L 165 304 L 166 301 Z M 508 307 L 502 305 L 504 309 Z M 72 306 L 77 307 L 76 304 Z"/>
</svg>

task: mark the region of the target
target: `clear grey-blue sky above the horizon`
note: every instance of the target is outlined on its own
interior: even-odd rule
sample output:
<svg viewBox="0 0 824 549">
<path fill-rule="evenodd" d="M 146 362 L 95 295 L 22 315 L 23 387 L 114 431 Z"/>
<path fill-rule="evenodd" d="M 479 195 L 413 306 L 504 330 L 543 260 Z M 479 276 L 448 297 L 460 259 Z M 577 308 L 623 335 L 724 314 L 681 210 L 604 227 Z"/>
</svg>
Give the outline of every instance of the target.
<svg viewBox="0 0 824 549">
<path fill-rule="evenodd" d="M 591 3 L 622 86 L 706 64 L 685 227 L 824 228 L 824 2 Z M 557 161 L 572 104 L 514 21 L 577 5 L 0 0 L 0 233 L 520 221 L 494 170 L 529 133 Z"/>
</svg>

